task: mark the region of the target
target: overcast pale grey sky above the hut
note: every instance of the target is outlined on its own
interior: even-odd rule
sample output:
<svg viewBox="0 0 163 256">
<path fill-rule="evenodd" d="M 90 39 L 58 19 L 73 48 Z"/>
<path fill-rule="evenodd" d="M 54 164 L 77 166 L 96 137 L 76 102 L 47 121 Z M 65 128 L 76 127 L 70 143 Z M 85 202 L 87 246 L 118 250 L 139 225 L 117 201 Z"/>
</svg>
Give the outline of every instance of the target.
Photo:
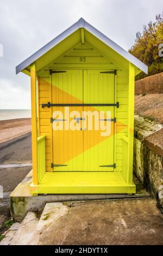
<svg viewBox="0 0 163 256">
<path fill-rule="evenodd" d="M 15 66 L 80 17 L 128 50 L 162 11 L 162 0 L 1 0 L 0 109 L 30 108 L 29 77 Z"/>
</svg>

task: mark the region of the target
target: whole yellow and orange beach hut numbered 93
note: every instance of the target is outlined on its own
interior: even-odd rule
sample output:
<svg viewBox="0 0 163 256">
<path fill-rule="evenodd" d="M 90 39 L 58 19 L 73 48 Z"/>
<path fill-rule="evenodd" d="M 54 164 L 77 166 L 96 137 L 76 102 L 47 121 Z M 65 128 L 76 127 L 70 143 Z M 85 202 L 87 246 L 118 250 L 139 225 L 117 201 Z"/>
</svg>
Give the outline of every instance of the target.
<svg viewBox="0 0 163 256">
<path fill-rule="evenodd" d="M 81 18 L 20 71 L 31 81 L 31 193 L 135 193 L 134 81 L 147 66 Z"/>
</svg>

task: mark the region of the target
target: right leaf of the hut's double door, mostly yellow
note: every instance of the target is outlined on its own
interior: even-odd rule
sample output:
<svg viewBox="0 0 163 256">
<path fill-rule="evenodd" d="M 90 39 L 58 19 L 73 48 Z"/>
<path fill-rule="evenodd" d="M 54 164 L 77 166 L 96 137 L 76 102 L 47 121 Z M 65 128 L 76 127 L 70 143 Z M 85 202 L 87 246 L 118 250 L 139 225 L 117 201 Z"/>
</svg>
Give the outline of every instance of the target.
<svg viewBox="0 0 163 256">
<path fill-rule="evenodd" d="M 89 130 L 85 124 L 84 131 L 84 170 L 85 171 L 114 171 L 114 106 L 100 104 L 114 103 L 114 74 L 100 70 L 84 70 L 84 103 L 98 104 L 86 106 L 84 111 L 95 113 L 99 130 Z M 85 122 L 91 117 L 87 114 Z M 96 125 L 97 125 L 96 124 Z M 103 130 L 104 129 L 104 130 Z M 107 132 L 108 131 L 108 132 Z"/>
</svg>

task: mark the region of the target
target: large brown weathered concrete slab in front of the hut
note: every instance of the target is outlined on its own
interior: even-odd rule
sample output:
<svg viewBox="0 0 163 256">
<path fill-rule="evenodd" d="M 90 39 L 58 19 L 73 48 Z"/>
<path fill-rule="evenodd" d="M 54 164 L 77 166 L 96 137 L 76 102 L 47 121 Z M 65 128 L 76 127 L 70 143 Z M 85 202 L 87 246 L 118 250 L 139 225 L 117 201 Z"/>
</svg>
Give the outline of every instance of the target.
<svg viewBox="0 0 163 256">
<path fill-rule="evenodd" d="M 39 245 L 163 245 L 163 215 L 154 199 L 62 204 L 69 211 L 42 231 Z"/>
</svg>

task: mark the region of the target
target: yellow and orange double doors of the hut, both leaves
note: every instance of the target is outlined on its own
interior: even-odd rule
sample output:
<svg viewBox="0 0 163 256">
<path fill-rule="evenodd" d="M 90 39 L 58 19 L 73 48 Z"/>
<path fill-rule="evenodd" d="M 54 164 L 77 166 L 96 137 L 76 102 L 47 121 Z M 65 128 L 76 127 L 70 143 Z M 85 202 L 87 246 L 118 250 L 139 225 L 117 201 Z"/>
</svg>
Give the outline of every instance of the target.
<svg viewBox="0 0 163 256">
<path fill-rule="evenodd" d="M 114 84 L 103 70 L 52 74 L 54 171 L 114 171 Z"/>
</svg>

